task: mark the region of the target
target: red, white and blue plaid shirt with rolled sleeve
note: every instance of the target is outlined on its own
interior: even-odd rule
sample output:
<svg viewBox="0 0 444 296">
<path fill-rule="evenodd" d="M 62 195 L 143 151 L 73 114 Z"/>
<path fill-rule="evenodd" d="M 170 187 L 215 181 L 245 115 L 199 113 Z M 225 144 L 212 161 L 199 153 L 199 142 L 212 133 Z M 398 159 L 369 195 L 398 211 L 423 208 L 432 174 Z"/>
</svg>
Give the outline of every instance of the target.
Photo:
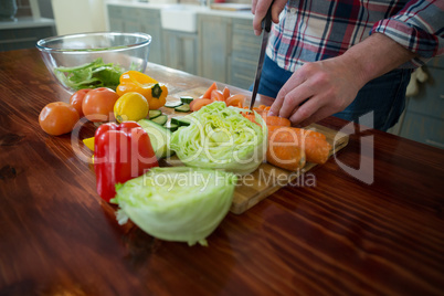
<svg viewBox="0 0 444 296">
<path fill-rule="evenodd" d="M 334 57 L 382 33 L 420 57 L 423 65 L 444 53 L 444 0 L 289 0 L 273 25 L 267 55 L 287 71 Z"/>
</svg>

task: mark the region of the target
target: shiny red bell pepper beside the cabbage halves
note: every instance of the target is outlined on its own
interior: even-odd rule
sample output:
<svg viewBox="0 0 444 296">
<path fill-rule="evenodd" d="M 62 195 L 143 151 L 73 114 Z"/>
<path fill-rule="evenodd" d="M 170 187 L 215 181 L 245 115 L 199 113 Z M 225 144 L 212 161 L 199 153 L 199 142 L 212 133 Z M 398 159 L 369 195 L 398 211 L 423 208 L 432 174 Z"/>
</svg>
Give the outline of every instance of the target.
<svg viewBox="0 0 444 296">
<path fill-rule="evenodd" d="M 148 134 L 135 121 L 99 126 L 94 142 L 97 193 L 107 202 L 115 197 L 117 183 L 159 166 Z"/>
</svg>

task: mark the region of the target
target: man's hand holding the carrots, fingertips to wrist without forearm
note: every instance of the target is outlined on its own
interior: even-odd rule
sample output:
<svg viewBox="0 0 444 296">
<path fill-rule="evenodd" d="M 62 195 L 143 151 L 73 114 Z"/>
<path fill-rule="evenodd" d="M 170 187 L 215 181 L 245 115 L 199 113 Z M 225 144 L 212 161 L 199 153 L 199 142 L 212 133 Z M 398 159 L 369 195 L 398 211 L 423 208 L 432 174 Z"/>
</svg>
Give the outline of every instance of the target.
<svg viewBox="0 0 444 296">
<path fill-rule="evenodd" d="M 281 88 L 271 115 L 306 126 L 343 110 L 364 85 L 356 70 L 341 57 L 306 63 Z"/>
</svg>

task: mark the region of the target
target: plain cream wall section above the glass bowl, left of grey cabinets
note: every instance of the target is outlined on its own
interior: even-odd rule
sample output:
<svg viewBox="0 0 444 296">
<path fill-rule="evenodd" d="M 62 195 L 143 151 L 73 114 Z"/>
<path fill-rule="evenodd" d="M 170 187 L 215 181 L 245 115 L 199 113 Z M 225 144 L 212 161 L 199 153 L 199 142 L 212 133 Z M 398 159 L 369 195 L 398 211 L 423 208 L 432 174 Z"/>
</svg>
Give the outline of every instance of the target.
<svg viewBox="0 0 444 296">
<path fill-rule="evenodd" d="M 106 31 L 104 0 L 52 0 L 59 35 Z"/>
</svg>

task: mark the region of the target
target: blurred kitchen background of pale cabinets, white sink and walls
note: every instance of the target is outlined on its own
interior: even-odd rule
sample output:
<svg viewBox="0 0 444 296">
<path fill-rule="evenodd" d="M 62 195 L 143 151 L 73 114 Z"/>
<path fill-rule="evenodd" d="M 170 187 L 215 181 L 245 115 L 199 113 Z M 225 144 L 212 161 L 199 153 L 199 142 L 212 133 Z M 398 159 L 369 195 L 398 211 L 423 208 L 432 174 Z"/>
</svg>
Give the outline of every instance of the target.
<svg viewBox="0 0 444 296">
<path fill-rule="evenodd" d="M 150 63 L 247 89 L 261 46 L 250 8 L 251 0 L 0 0 L 0 51 L 52 35 L 139 31 L 152 36 Z M 412 75 L 392 134 L 444 148 L 443 77 L 443 57 Z"/>
</svg>

